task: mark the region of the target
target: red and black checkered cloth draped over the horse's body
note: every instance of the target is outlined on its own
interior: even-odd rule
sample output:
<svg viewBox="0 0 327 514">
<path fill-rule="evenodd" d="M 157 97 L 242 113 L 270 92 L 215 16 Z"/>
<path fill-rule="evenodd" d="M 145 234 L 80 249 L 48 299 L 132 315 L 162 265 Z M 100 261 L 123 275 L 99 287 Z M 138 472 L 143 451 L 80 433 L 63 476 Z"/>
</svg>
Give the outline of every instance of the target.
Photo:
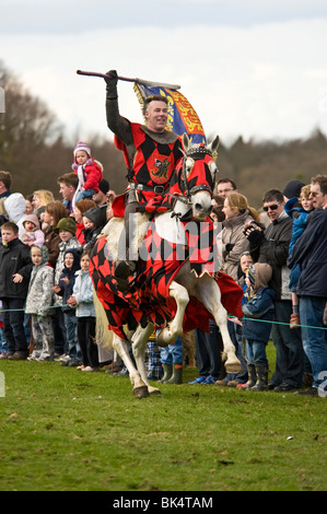
<svg viewBox="0 0 327 514">
<path fill-rule="evenodd" d="M 211 231 L 210 223 L 207 230 Z M 187 225 L 185 225 L 187 227 Z M 198 247 L 198 245 L 195 245 Z M 213 256 L 214 245 L 208 248 Z M 206 255 L 206 252 L 205 252 Z M 114 261 L 106 237 L 97 241 L 90 265 L 90 273 L 96 294 L 108 318 L 108 328 L 120 338 L 127 339 L 124 325 L 135 329 L 138 324 L 147 326 L 152 322 L 156 327 L 164 327 L 176 313 L 176 302 L 170 296 L 170 285 L 179 268 L 189 257 L 188 245 L 177 245 L 163 240 L 150 223 L 148 234 L 140 248 L 139 273 L 129 278 L 130 289 L 126 293 L 117 290 L 114 277 Z M 202 260 L 202 262 L 200 261 Z M 208 264 L 206 258 L 197 259 L 196 271 L 201 274 L 207 269 L 212 276 L 215 261 Z M 243 290 L 227 274 L 215 272 L 214 280 L 220 287 L 222 304 L 227 313 L 242 317 L 241 301 Z M 184 316 L 184 331 L 196 327 L 209 331 L 209 319 L 213 319 L 206 307 L 195 297 L 190 297 Z"/>
</svg>

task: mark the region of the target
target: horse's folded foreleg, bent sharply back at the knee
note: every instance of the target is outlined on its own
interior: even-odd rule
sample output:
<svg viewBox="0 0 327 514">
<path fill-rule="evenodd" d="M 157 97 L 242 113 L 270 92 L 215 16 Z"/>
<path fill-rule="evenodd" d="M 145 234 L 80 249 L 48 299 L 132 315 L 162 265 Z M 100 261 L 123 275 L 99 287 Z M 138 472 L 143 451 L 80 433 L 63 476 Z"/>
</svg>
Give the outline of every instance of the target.
<svg viewBox="0 0 327 514">
<path fill-rule="evenodd" d="M 164 327 L 156 338 L 160 347 L 166 347 L 173 342 L 177 336 L 183 334 L 183 320 L 186 306 L 189 302 L 189 295 L 184 285 L 172 281 L 170 285 L 170 296 L 172 296 L 177 305 L 176 315 L 167 327 Z"/>
</svg>

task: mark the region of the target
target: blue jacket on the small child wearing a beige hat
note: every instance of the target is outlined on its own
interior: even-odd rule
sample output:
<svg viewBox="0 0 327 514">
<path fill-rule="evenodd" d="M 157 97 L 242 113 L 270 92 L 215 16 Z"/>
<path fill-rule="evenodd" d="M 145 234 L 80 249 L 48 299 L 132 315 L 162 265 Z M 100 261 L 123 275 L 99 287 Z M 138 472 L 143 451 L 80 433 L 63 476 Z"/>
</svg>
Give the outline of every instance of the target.
<svg viewBox="0 0 327 514">
<path fill-rule="evenodd" d="M 268 342 L 275 313 L 276 293 L 271 288 L 262 288 L 242 305 L 243 337 L 254 341 Z M 257 319 L 261 319 L 260 322 Z"/>
</svg>

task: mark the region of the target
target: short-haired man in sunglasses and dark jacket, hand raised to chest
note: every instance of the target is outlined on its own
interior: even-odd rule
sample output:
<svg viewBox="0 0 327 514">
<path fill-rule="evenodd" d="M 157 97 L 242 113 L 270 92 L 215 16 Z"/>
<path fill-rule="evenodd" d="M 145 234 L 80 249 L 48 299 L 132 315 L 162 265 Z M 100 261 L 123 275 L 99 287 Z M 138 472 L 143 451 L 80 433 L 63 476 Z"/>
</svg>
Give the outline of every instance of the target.
<svg viewBox="0 0 327 514">
<path fill-rule="evenodd" d="M 255 261 L 272 267 L 270 287 L 276 292 L 275 320 L 271 336 L 276 347 L 276 369 L 268 384 L 277 393 L 296 390 L 302 385 L 303 347 L 299 328 L 290 329 L 292 314 L 290 270 L 287 267 L 289 245 L 292 237 L 292 219 L 284 211 L 283 194 L 269 189 L 262 198 L 264 211 L 270 224 L 264 232 L 259 226 L 249 225 L 245 235 Z"/>
</svg>

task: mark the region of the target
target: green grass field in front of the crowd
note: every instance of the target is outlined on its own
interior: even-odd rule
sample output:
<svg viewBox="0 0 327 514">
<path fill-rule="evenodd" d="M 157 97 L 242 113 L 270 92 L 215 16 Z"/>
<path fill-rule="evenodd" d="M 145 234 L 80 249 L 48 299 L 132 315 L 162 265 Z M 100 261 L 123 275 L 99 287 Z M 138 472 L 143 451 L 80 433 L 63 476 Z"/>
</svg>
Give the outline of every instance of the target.
<svg viewBox="0 0 327 514">
<path fill-rule="evenodd" d="M 104 371 L 0 371 L 1 491 L 326 490 L 326 398 L 190 386 L 195 369 L 142 400 Z"/>
</svg>

